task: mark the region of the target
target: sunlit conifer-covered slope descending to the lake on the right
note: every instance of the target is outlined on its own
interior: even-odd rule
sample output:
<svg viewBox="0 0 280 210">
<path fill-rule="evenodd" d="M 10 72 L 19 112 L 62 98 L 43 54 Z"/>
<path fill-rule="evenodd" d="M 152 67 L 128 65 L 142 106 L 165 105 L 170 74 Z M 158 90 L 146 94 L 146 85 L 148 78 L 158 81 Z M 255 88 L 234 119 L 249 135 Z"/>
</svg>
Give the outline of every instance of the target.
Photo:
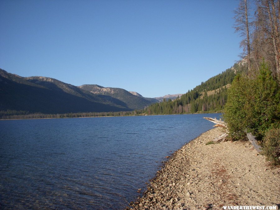
<svg viewBox="0 0 280 210">
<path fill-rule="evenodd" d="M 171 99 L 163 100 L 146 107 L 144 111 L 146 114 L 189 114 L 221 111 L 227 99 L 228 84 L 231 84 L 236 74 L 245 71 L 246 67 L 242 62 L 235 63 L 233 67 L 211 77 L 206 82 L 201 82 L 200 85 L 189 90 L 180 98 L 173 101 Z"/>
</svg>

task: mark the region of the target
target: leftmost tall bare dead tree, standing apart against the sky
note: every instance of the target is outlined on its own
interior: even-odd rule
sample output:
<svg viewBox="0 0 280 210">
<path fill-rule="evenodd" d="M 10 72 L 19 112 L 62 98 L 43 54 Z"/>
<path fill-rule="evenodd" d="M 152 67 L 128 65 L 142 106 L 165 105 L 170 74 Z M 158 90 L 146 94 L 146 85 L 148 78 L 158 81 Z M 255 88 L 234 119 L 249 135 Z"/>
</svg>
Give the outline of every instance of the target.
<svg viewBox="0 0 280 210">
<path fill-rule="evenodd" d="M 249 21 L 247 0 L 240 0 L 238 8 L 234 11 L 235 32 L 239 32 L 240 36 L 244 39 L 240 42 L 240 48 L 243 48 L 241 58 L 247 58 L 249 72 L 251 70 L 251 49 L 250 49 L 250 26 L 252 23 Z"/>
</svg>

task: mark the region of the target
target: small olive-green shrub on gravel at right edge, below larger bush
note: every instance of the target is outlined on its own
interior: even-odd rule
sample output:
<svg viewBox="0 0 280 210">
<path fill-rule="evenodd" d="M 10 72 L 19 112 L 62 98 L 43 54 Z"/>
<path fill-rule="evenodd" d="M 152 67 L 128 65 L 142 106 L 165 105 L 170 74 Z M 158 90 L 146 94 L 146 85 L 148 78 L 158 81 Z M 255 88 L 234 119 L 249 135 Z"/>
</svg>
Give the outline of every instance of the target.
<svg viewBox="0 0 280 210">
<path fill-rule="evenodd" d="M 264 135 L 262 154 L 267 156 L 267 160 L 273 165 L 280 165 L 280 128 L 272 128 Z"/>
</svg>

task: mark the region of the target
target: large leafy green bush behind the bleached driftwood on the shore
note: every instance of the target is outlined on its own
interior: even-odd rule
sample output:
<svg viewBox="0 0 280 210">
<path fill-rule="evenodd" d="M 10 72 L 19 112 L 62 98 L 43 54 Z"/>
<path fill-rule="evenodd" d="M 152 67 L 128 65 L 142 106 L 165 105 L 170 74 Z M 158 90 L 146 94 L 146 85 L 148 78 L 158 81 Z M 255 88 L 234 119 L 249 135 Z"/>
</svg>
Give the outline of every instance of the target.
<svg viewBox="0 0 280 210">
<path fill-rule="evenodd" d="M 261 63 L 258 77 L 236 76 L 228 89 L 223 115 L 230 137 L 239 140 L 251 132 L 261 139 L 279 122 L 279 98 L 278 84 L 267 63 Z"/>
</svg>

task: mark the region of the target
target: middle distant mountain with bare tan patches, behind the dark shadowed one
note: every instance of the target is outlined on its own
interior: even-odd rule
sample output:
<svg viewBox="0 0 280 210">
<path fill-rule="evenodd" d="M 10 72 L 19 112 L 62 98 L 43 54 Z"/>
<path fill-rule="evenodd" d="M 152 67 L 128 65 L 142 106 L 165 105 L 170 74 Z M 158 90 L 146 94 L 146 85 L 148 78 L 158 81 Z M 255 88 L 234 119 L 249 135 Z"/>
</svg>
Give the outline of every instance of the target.
<svg viewBox="0 0 280 210">
<path fill-rule="evenodd" d="M 137 93 L 139 96 L 132 94 L 122 88 L 103 87 L 99 85 L 81 85 L 78 87 L 96 95 L 110 96 L 122 101 L 131 110 L 144 109 L 145 106 L 158 102 L 158 100 L 152 98 L 144 98 L 139 93 Z"/>
</svg>

